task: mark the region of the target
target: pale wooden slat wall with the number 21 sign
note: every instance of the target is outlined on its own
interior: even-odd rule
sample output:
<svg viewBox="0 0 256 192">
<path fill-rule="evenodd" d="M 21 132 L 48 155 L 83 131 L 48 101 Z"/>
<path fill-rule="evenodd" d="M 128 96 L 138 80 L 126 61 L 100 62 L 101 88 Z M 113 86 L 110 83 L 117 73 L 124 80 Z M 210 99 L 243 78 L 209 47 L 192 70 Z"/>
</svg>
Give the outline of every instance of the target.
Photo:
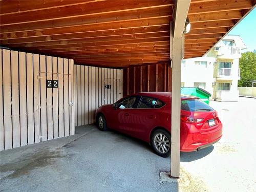
<svg viewBox="0 0 256 192">
<path fill-rule="evenodd" d="M 74 71 L 75 126 L 94 123 L 99 106 L 122 98 L 122 70 L 74 65 Z"/>
</svg>

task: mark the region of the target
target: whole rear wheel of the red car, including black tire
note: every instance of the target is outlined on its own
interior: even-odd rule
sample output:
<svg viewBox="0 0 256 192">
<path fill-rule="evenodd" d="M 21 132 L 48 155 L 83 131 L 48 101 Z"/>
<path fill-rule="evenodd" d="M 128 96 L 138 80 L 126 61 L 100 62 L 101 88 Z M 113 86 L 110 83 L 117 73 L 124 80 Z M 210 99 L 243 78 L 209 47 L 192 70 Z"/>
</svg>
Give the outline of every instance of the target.
<svg viewBox="0 0 256 192">
<path fill-rule="evenodd" d="M 170 134 L 165 130 L 155 130 L 151 136 L 151 146 L 161 157 L 170 155 Z"/>
</svg>

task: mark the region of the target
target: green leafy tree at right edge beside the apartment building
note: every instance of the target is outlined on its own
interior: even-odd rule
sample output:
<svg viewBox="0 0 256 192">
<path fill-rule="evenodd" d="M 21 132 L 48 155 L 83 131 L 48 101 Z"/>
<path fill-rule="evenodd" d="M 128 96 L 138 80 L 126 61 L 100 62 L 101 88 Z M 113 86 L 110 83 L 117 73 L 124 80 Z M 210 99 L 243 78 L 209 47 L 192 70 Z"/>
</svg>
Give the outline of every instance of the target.
<svg viewBox="0 0 256 192">
<path fill-rule="evenodd" d="M 238 87 L 251 87 L 251 80 L 256 80 L 256 51 L 242 53 L 239 59 L 241 80 Z"/>
</svg>

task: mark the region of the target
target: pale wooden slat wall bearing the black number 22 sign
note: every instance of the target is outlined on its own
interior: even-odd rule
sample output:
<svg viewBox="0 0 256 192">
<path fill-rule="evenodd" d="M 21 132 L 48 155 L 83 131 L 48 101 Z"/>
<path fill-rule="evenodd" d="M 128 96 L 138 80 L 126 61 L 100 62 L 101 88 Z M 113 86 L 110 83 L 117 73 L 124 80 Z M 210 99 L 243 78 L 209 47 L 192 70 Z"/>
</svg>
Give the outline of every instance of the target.
<svg viewBox="0 0 256 192">
<path fill-rule="evenodd" d="M 0 151 L 74 135 L 73 68 L 72 59 L 0 49 Z"/>
</svg>

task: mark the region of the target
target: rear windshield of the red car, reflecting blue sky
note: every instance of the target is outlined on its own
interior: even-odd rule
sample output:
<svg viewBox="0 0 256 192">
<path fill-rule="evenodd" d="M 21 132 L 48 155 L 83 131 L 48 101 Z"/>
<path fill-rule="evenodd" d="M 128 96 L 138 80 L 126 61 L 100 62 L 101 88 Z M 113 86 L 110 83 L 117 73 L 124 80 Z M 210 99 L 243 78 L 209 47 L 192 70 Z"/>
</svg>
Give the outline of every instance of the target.
<svg viewBox="0 0 256 192">
<path fill-rule="evenodd" d="M 214 109 L 200 99 L 189 99 L 181 101 L 181 110 L 194 112 L 212 111 Z"/>
</svg>

